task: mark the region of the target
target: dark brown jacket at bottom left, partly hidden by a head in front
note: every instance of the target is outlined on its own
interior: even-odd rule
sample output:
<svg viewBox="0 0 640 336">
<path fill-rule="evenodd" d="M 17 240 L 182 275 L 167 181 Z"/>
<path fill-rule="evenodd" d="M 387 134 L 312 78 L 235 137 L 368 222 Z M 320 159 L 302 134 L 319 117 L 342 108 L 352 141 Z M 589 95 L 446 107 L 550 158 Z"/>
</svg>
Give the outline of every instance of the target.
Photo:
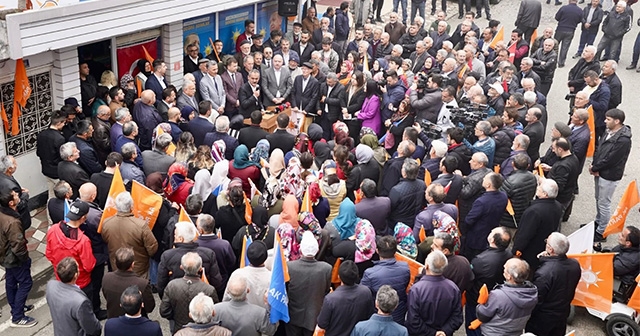
<svg viewBox="0 0 640 336">
<path fill-rule="evenodd" d="M 109 272 L 102 278 L 102 294 L 107 300 L 107 317 L 113 318 L 124 315 L 124 309 L 120 307 L 120 296 L 129 286 L 136 285 L 142 292 L 144 311 L 150 314 L 156 307 L 156 301 L 151 292 L 149 280 L 137 276 L 133 272 L 120 271 Z"/>
</svg>

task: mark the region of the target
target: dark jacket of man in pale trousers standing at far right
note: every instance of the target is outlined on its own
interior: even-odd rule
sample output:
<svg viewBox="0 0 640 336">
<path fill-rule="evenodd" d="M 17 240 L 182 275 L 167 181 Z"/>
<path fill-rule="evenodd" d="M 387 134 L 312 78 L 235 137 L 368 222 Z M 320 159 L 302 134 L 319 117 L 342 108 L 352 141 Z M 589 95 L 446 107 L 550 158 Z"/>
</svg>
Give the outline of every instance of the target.
<svg viewBox="0 0 640 336">
<path fill-rule="evenodd" d="M 606 136 L 605 133 L 593 155 L 591 171 L 600 173 L 600 177 L 607 181 L 619 181 L 631 151 L 631 128 L 625 125 L 611 138 L 604 140 Z"/>
</svg>

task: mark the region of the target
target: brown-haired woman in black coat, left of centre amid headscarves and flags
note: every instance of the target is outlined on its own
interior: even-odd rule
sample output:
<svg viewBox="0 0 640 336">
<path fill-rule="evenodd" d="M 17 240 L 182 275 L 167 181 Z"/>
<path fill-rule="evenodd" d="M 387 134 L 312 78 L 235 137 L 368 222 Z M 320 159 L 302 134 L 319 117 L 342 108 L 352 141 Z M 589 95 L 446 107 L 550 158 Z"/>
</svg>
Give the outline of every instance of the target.
<svg viewBox="0 0 640 336">
<path fill-rule="evenodd" d="M 216 213 L 216 227 L 222 231 L 222 239 L 233 242 L 233 237 L 238 233 L 242 227 L 247 224 L 244 214 L 246 206 L 244 202 L 244 193 L 240 183 L 229 184 L 229 190 L 227 192 L 228 204 L 218 209 Z"/>
</svg>

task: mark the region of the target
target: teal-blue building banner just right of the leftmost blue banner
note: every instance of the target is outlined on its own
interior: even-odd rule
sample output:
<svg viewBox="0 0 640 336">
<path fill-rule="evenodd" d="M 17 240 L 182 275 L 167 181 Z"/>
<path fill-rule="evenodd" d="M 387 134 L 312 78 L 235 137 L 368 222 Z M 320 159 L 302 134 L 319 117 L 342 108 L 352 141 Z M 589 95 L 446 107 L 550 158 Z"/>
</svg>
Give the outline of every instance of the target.
<svg viewBox="0 0 640 336">
<path fill-rule="evenodd" d="M 255 18 L 254 6 L 238 7 L 218 13 L 218 38 L 223 43 L 222 52 L 235 54 L 236 39 L 244 32 L 244 21 Z"/>
</svg>

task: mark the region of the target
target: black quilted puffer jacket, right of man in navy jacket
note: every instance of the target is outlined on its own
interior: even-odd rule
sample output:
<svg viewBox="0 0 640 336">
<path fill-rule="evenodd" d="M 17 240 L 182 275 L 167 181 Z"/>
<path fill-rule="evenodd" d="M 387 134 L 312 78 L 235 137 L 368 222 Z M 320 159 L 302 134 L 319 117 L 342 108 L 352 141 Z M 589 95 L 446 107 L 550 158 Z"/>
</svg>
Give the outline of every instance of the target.
<svg viewBox="0 0 640 336">
<path fill-rule="evenodd" d="M 537 187 L 538 180 L 528 170 L 514 170 L 502 184 L 500 190 L 506 192 L 507 197 L 511 200 L 516 223 L 520 223 L 522 214 L 536 195 Z M 513 217 L 506 211 L 500 219 L 500 225 L 510 228 L 516 227 L 513 223 Z"/>
</svg>

